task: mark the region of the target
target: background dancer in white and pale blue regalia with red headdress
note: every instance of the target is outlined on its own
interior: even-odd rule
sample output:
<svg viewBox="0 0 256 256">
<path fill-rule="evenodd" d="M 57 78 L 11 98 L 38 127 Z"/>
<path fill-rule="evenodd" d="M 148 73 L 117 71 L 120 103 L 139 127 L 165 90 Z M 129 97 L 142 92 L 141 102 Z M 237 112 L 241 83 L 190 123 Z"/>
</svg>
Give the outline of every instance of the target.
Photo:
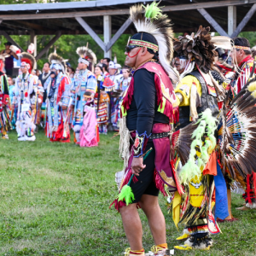
<svg viewBox="0 0 256 256">
<path fill-rule="evenodd" d="M 32 119 L 32 96 L 38 94 L 38 79 L 32 74 L 36 63 L 35 58 L 29 53 L 21 53 L 20 75 L 15 80 L 15 96 L 12 109 L 18 105 L 16 131 L 18 141 L 35 141 L 34 129 L 36 125 Z"/>
</svg>

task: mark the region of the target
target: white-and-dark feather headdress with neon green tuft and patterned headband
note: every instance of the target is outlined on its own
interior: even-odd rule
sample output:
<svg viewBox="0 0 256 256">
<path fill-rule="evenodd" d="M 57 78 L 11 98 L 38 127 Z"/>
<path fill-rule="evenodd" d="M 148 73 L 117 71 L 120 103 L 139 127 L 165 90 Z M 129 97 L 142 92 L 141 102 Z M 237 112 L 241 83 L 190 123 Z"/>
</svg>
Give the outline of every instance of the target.
<svg viewBox="0 0 256 256">
<path fill-rule="evenodd" d="M 131 7 L 130 19 L 137 29 L 137 34 L 131 38 L 128 45 L 144 46 L 149 52 L 158 55 L 161 66 L 169 74 L 172 82 L 177 83 L 179 76 L 170 65 L 173 54 L 172 23 L 167 15 L 162 14 L 158 4 L 154 2 L 146 7 L 143 5 Z"/>
</svg>

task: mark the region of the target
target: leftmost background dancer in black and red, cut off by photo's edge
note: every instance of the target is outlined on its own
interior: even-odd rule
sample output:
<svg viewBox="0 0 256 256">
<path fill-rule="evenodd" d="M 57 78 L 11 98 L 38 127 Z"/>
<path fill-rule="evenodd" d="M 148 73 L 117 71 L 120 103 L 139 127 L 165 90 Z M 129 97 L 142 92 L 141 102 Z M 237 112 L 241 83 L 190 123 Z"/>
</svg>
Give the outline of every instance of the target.
<svg viewBox="0 0 256 256">
<path fill-rule="evenodd" d="M 12 129 L 11 117 L 9 115 L 10 99 L 9 84 L 5 73 L 3 73 L 3 61 L 7 54 L 0 55 L 0 128 L 3 139 L 9 139 L 7 131 Z"/>
</svg>

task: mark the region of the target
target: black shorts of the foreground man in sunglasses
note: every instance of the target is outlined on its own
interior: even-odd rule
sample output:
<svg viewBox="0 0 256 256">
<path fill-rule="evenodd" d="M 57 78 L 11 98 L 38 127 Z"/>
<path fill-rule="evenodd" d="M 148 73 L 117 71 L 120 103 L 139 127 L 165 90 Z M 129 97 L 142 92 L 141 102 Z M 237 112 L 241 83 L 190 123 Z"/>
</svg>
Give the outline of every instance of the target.
<svg viewBox="0 0 256 256">
<path fill-rule="evenodd" d="M 154 183 L 154 143 L 148 142 L 145 152 L 149 149 L 153 148 L 148 154 L 146 160 L 144 160 L 143 164 L 146 165 L 146 168 L 140 172 L 140 175 L 137 176 L 137 183 L 131 182 L 131 189 L 134 194 L 135 200 L 132 203 L 137 203 L 141 200 L 143 195 L 159 195 L 159 189 L 156 188 Z"/>
</svg>

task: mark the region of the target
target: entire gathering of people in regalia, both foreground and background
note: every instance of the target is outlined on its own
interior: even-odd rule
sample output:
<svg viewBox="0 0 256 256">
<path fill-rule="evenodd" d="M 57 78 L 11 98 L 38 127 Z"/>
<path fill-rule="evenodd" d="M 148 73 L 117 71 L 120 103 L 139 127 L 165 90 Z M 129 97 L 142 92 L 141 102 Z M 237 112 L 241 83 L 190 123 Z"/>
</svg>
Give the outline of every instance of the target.
<svg viewBox="0 0 256 256">
<path fill-rule="evenodd" d="M 237 220 L 230 207 L 234 181 L 245 189 L 239 210 L 256 207 L 255 50 L 247 38 L 212 37 L 203 26 L 174 38 L 158 3 L 131 7 L 131 20 L 137 33 L 125 47 L 123 68 L 109 58 L 97 62 L 82 46 L 78 67 L 52 53 L 43 73 L 32 74 L 35 59 L 24 52 L 13 82 L 3 69 L 10 56 L 4 51 L 2 137 L 15 127 L 19 141 L 34 141 L 41 124 L 51 142 L 70 143 L 72 129 L 74 143 L 92 147 L 99 134 L 119 131 L 125 164 L 112 205 L 131 246 L 125 255 L 170 255 L 159 192 L 174 224 L 184 227 L 177 238 L 184 244 L 175 248 L 209 250 L 218 223 Z M 147 254 L 139 207 L 154 236 Z"/>
</svg>

